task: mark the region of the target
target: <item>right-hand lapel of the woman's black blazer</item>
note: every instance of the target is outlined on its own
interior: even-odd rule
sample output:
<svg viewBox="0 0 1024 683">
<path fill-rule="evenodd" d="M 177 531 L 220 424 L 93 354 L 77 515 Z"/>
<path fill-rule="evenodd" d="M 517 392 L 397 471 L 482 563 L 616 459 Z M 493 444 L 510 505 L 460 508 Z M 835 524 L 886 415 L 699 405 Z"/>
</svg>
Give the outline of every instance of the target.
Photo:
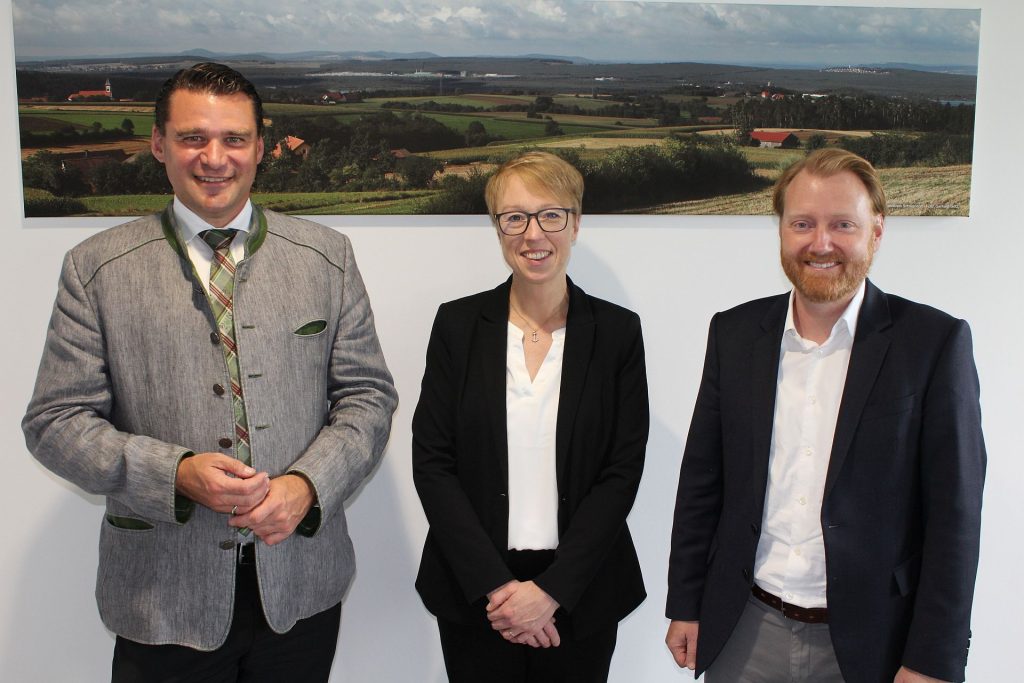
<svg viewBox="0 0 1024 683">
<path fill-rule="evenodd" d="M 569 310 L 565 321 L 565 348 L 562 352 L 562 380 L 558 390 L 558 417 L 555 428 L 555 472 L 563 481 L 568 461 L 572 428 L 575 425 L 583 387 L 594 349 L 594 311 L 582 289 L 566 278 Z M 561 486 L 559 486 L 561 488 Z"/>
</svg>

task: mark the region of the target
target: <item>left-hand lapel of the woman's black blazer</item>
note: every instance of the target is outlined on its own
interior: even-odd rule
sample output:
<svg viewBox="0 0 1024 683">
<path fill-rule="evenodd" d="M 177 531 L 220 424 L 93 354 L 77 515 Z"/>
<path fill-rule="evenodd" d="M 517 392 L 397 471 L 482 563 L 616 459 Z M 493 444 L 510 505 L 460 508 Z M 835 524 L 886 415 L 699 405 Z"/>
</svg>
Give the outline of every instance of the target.
<svg viewBox="0 0 1024 683">
<path fill-rule="evenodd" d="M 492 290 L 480 309 L 477 341 L 473 352 L 481 369 L 480 383 L 484 412 L 490 422 L 487 433 L 494 435 L 492 453 L 500 460 L 506 488 L 509 480 L 508 418 L 505 408 L 505 372 L 508 359 L 509 289 L 512 279 Z"/>
</svg>

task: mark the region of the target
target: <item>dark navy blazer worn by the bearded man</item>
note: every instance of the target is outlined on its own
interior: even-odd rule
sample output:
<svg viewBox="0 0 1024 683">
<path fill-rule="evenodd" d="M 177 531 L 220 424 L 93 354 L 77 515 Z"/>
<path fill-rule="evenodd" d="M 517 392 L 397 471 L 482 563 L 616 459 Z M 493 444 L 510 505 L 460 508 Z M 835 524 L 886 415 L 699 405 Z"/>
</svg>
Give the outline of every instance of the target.
<svg viewBox="0 0 1024 683">
<path fill-rule="evenodd" d="M 788 295 L 715 315 L 683 455 L 667 615 L 697 673 L 751 592 Z M 963 681 L 985 444 L 964 321 L 867 283 L 821 506 L 828 622 L 849 683 L 901 665 Z"/>
</svg>

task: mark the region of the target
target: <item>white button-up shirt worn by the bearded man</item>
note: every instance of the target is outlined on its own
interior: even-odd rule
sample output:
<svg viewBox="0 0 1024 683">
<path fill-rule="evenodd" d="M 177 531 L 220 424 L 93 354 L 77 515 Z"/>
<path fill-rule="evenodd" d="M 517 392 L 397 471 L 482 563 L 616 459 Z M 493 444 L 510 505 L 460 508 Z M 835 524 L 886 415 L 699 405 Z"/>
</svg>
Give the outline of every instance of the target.
<svg viewBox="0 0 1024 683">
<path fill-rule="evenodd" d="M 764 590 L 802 607 L 824 607 L 821 501 L 864 284 L 821 345 L 804 339 L 793 317 L 779 349 L 768 490 L 754 563 Z"/>
</svg>

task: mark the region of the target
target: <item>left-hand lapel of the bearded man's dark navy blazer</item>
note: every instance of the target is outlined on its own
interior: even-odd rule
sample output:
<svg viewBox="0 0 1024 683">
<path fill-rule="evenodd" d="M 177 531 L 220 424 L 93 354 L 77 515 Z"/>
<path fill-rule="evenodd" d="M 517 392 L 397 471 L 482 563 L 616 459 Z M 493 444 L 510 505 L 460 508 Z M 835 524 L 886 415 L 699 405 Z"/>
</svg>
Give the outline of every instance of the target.
<svg viewBox="0 0 1024 683">
<path fill-rule="evenodd" d="M 751 492 L 758 510 L 764 508 L 768 485 L 768 459 L 775 426 L 775 394 L 778 388 L 779 349 L 785 326 L 790 295 L 783 294 L 771 304 L 761 319 L 764 334 L 751 351 L 751 445 L 753 464 Z"/>
</svg>

